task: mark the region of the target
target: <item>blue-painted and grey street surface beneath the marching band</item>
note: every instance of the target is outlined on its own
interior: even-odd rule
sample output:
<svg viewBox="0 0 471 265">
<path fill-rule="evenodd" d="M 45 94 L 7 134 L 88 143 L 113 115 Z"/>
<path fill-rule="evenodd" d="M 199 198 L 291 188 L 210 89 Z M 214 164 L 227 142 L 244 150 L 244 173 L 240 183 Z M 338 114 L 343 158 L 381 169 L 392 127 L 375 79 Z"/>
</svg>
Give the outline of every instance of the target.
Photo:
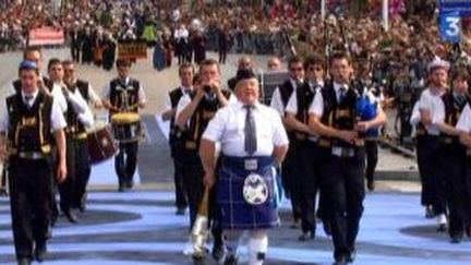
<svg viewBox="0 0 471 265">
<path fill-rule="evenodd" d="M 46 60 L 52 56 L 68 58 L 69 52 L 46 51 Z M 238 57 L 228 59 L 222 67 L 225 80 L 234 74 Z M 0 60 L 4 62 L 0 65 L 0 84 L 5 85 L 15 77 L 21 55 L 0 55 Z M 256 57 L 258 67 L 264 67 L 265 61 L 266 58 Z M 114 76 L 113 71 L 104 72 L 93 65 L 81 67 L 80 72 L 98 93 Z M 53 229 L 45 264 L 191 264 L 191 258 L 181 254 L 188 240 L 188 215 L 174 215 L 168 124 L 158 116 L 164 95 L 178 85 L 177 68 L 157 73 L 149 61 L 144 61 L 132 72 L 144 84 L 149 99 L 143 112 L 146 137 L 140 145 L 136 189 L 116 192 L 112 159 L 95 166 L 88 210 L 80 214 L 78 225 L 61 218 Z M 0 95 L 4 92 L 1 89 Z M 100 118 L 105 112 L 96 115 Z M 401 181 L 379 181 L 378 191 L 367 194 L 357 264 L 471 264 L 470 240 L 450 244 L 445 233 L 435 231 L 434 220 L 423 217 L 420 186 L 408 177 L 416 172 L 415 162 L 382 149 L 378 171 L 384 179 L 398 176 Z M 281 227 L 270 232 L 267 264 L 330 264 L 331 243 L 322 226 L 314 241 L 299 242 L 299 231 L 289 228 L 286 205 L 288 202 L 281 209 Z M 9 212 L 8 198 L 0 198 L 0 263 L 11 264 L 14 250 Z M 245 248 L 242 262 L 246 262 Z"/>
</svg>

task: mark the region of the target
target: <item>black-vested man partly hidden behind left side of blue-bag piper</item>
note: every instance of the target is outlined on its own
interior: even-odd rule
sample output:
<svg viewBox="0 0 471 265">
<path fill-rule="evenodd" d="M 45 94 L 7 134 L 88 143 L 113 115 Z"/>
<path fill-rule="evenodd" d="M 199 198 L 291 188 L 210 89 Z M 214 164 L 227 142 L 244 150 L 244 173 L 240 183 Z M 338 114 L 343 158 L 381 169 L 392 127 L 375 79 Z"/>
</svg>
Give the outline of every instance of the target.
<svg viewBox="0 0 471 265">
<path fill-rule="evenodd" d="M 318 136 L 307 125 L 309 108 L 311 107 L 314 95 L 324 85 L 323 60 L 318 57 L 310 57 L 304 62 L 306 70 L 306 82 L 303 86 L 297 87 L 292 93 L 286 108 L 286 124 L 294 133 L 294 138 L 290 143 L 291 148 L 297 152 L 294 159 L 294 174 L 299 176 L 301 194 L 301 230 L 299 238 L 306 241 L 315 238 L 315 205 L 316 194 L 319 182 L 319 164 L 325 157 L 326 148 L 318 146 Z M 328 153 L 327 153 L 328 154 Z"/>
</svg>

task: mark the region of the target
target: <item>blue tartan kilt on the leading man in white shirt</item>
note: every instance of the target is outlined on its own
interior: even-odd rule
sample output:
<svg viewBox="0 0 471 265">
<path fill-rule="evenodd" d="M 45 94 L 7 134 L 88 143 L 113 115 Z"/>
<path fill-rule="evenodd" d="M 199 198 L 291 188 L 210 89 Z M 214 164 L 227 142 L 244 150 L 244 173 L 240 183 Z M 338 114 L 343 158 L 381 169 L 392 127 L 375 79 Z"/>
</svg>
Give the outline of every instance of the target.
<svg viewBox="0 0 471 265">
<path fill-rule="evenodd" d="M 246 159 L 257 160 L 257 169 L 246 170 Z M 250 173 L 262 176 L 268 188 L 268 197 L 263 204 L 251 205 L 243 197 L 244 180 Z M 217 182 L 217 203 L 224 229 L 261 229 L 277 226 L 279 219 L 273 158 L 224 156 Z"/>
</svg>

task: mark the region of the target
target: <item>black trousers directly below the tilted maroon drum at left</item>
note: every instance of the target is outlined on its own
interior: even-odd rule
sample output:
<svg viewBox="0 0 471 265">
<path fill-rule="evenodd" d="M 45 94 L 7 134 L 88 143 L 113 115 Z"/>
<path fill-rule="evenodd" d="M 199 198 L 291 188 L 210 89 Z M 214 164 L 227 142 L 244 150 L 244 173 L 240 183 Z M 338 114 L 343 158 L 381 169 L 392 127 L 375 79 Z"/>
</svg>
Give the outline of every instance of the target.
<svg viewBox="0 0 471 265">
<path fill-rule="evenodd" d="M 74 140 L 75 183 L 72 196 L 72 207 L 80 207 L 86 201 L 86 186 L 92 172 L 88 145 L 86 140 Z"/>
</svg>

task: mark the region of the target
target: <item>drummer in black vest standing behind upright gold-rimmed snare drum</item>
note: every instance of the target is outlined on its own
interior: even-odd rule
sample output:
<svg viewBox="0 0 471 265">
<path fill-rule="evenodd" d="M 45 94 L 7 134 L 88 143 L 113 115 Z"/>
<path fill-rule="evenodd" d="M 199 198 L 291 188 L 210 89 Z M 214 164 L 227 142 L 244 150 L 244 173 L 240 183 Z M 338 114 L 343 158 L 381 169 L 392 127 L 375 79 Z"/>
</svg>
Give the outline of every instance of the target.
<svg viewBox="0 0 471 265">
<path fill-rule="evenodd" d="M 111 80 L 104 88 L 102 105 L 111 118 L 117 113 L 138 113 L 146 104 L 146 96 L 141 83 L 130 77 L 131 62 L 118 59 L 116 62 L 118 77 Z M 119 180 L 119 192 L 132 189 L 137 164 L 137 141 L 120 143 L 114 159 L 114 169 Z"/>
</svg>

